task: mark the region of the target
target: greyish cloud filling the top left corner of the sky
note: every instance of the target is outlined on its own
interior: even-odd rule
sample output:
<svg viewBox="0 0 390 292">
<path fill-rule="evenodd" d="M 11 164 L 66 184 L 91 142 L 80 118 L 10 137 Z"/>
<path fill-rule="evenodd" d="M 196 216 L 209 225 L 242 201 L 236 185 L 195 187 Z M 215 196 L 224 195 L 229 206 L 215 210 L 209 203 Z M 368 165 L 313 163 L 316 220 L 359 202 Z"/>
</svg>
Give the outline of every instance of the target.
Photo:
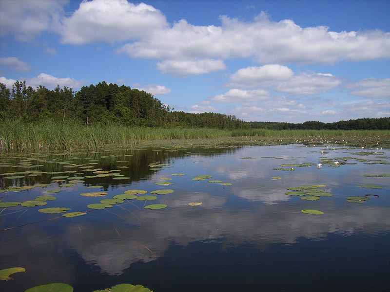
<svg viewBox="0 0 390 292">
<path fill-rule="evenodd" d="M 68 0 L 1 0 L 0 36 L 31 41 L 44 31 L 57 31 L 62 5 Z"/>
</svg>

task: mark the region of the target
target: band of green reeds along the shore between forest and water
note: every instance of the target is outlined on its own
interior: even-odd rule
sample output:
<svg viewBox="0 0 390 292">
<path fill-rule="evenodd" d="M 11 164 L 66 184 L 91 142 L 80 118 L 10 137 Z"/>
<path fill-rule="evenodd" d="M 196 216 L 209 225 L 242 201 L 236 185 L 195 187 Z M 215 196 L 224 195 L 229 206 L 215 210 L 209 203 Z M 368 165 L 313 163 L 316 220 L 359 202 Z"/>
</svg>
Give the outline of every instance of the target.
<svg viewBox="0 0 390 292">
<path fill-rule="evenodd" d="M 252 144 L 325 144 L 344 143 L 348 146 L 364 145 L 389 147 L 388 130 L 270 130 L 215 128 L 145 128 L 115 124 L 78 125 L 56 121 L 25 123 L 6 121 L 0 123 L 0 153 L 41 150 L 97 150 L 110 146 L 134 146 L 152 140 L 172 140 L 178 146 L 180 140 L 197 139 L 188 143 L 205 143 L 204 139 L 217 138 L 215 143 Z"/>
</svg>

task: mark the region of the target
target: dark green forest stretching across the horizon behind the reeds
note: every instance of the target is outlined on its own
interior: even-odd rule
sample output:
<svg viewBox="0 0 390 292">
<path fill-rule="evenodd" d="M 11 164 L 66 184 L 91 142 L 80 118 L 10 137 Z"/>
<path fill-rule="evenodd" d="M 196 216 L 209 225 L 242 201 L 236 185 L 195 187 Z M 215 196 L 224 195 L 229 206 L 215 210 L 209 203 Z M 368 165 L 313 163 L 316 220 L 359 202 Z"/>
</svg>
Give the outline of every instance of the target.
<svg viewBox="0 0 390 292">
<path fill-rule="evenodd" d="M 390 117 L 294 124 L 244 122 L 234 115 L 175 111 L 148 92 L 105 81 L 83 86 L 79 91 L 59 86 L 53 90 L 44 86 L 33 89 L 25 81 L 16 81 L 9 89 L 0 83 L 0 115 L 1 119 L 18 118 L 25 122 L 53 119 L 87 126 L 114 123 L 162 128 L 390 129 Z"/>
</svg>

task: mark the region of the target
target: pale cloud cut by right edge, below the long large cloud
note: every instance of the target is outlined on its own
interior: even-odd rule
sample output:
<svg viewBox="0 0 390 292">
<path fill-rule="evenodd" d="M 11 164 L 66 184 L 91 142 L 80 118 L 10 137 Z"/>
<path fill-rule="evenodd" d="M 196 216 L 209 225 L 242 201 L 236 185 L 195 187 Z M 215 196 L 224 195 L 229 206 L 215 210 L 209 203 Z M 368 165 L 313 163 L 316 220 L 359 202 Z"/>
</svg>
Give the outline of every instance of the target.
<svg viewBox="0 0 390 292">
<path fill-rule="evenodd" d="M 350 94 L 366 98 L 389 98 L 390 78 L 367 78 L 344 85 L 350 89 Z"/>
</svg>

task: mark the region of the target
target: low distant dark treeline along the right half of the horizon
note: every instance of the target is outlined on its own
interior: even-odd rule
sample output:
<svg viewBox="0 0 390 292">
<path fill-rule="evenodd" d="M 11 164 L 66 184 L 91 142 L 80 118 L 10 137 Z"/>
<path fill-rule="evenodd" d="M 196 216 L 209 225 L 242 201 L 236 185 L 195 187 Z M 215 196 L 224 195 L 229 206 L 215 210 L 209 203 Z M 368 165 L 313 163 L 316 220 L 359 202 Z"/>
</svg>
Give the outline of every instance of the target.
<svg viewBox="0 0 390 292">
<path fill-rule="evenodd" d="M 390 117 L 363 118 L 334 123 L 308 121 L 304 123 L 247 122 L 249 128 L 270 130 L 390 130 Z"/>
</svg>

